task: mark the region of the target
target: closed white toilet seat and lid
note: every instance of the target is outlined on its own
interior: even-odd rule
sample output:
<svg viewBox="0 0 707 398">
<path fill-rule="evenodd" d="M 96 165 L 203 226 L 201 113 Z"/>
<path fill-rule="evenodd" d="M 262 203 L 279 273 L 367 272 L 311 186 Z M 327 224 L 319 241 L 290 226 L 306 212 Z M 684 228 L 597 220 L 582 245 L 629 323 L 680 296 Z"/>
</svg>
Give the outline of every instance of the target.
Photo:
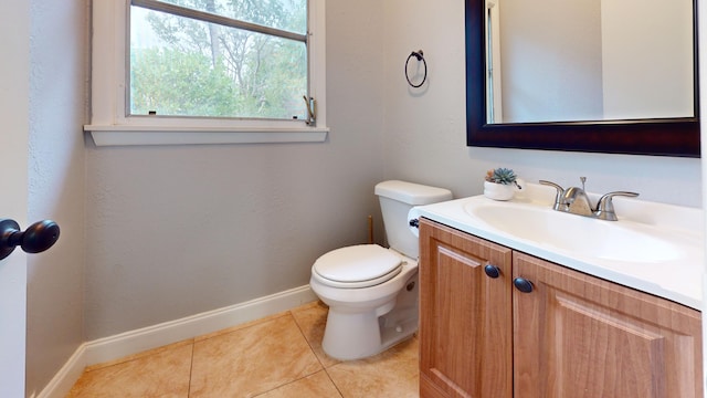
<svg viewBox="0 0 707 398">
<path fill-rule="evenodd" d="M 333 287 L 360 289 L 383 283 L 402 270 L 402 258 L 378 244 L 333 250 L 312 266 L 313 276 Z"/>
</svg>

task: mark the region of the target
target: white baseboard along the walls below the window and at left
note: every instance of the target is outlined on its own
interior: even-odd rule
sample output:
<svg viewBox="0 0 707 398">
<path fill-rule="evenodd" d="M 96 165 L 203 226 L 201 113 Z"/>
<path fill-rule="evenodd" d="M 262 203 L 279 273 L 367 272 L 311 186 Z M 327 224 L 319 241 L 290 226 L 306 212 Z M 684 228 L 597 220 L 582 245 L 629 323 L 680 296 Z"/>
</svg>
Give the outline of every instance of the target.
<svg viewBox="0 0 707 398">
<path fill-rule="evenodd" d="M 65 397 L 86 366 L 218 332 L 316 301 L 309 285 L 82 344 L 36 398 Z"/>
</svg>

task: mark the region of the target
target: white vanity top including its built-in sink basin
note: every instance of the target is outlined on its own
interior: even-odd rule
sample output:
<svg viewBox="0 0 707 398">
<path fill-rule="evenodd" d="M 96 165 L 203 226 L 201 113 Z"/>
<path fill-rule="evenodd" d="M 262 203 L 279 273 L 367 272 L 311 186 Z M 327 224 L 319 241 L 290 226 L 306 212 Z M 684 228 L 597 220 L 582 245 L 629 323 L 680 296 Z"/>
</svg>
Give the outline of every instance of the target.
<svg viewBox="0 0 707 398">
<path fill-rule="evenodd" d="M 595 201 L 598 195 L 592 195 Z M 614 202 L 619 221 L 552 210 L 555 189 L 526 184 L 508 201 L 483 195 L 415 207 L 425 218 L 561 266 L 703 310 L 704 210 Z M 514 271 L 515 272 L 515 271 Z"/>
</svg>

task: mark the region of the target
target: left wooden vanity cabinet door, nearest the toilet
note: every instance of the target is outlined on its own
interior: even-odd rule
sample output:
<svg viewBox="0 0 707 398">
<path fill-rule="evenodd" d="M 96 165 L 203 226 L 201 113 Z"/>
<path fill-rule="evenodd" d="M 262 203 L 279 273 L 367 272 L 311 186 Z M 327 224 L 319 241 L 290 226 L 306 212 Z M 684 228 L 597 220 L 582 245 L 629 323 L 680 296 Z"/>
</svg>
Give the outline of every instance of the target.
<svg viewBox="0 0 707 398">
<path fill-rule="evenodd" d="M 511 251 L 425 219 L 420 248 L 420 396 L 510 398 Z"/>
</svg>

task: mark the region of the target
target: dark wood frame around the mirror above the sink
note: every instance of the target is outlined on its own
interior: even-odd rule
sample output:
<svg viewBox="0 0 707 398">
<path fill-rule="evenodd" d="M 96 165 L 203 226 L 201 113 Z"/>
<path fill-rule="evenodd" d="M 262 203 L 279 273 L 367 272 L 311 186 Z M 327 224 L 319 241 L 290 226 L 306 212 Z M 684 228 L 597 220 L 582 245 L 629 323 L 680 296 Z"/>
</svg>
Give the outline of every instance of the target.
<svg viewBox="0 0 707 398">
<path fill-rule="evenodd" d="M 485 0 L 466 0 L 466 145 L 699 157 L 697 4 L 693 1 L 695 117 L 568 123 L 486 123 Z"/>
</svg>

